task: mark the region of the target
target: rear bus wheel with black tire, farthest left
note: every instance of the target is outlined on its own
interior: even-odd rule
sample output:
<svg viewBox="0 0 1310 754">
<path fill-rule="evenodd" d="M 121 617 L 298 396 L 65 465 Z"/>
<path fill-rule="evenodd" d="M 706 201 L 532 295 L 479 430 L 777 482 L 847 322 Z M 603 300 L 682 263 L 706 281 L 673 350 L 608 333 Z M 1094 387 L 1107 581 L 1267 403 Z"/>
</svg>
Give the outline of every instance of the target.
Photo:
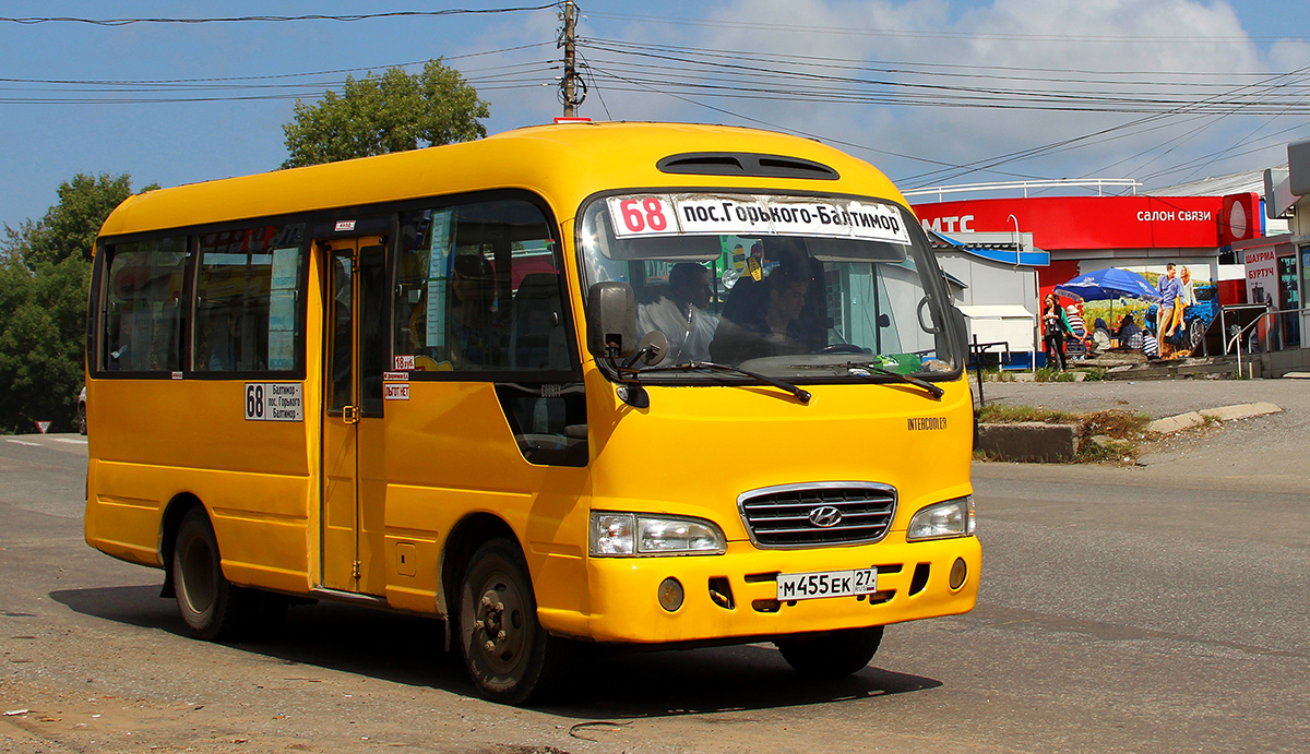
<svg viewBox="0 0 1310 754">
<path fill-rule="evenodd" d="M 189 511 L 177 529 L 173 584 L 177 610 L 187 632 L 196 639 L 234 639 L 262 613 L 265 600 L 258 593 L 236 586 L 223 576 L 219 541 L 204 508 Z M 284 610 L 286 602 L 282 605 Z"/>
</svg>

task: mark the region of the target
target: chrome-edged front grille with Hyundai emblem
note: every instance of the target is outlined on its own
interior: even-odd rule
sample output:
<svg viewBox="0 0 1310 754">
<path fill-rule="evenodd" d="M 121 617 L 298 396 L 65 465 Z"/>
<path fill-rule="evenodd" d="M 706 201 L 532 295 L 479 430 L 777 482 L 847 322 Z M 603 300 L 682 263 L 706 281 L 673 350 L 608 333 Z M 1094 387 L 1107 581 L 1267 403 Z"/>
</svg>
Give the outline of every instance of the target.
<svg viewBox="0 0 1310 754">
<path fill-rule="evenodd" d="M 760 547 L 857 545 L 887 534 L 896 513 L 896 488 L 871 482 L 783 484 L 743 494 L 738 508 Z M 833 520 L 829 526 L 819 525 Z"/>
</svg>

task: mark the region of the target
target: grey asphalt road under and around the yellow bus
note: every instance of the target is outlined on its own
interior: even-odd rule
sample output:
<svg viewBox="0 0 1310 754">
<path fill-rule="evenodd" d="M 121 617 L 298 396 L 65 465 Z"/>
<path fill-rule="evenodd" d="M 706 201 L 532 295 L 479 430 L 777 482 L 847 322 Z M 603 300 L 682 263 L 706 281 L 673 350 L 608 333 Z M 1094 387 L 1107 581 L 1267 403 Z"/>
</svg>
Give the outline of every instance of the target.
<svg viewBox="0 0 1310 754">
<path fill-rule="evenodd" d="M 1289 408 L 1155 457 L 1188 442 L 1183 458 L 1222 456 L 1234 439 L 1258 445 L 1305 420 Z M 160 572 L 81 541 L 76 440 L 0 439 L 0 708 L 28 709 L 0 717 L 0 751 L 1210 753 L 1310 741 L 1310 505 L 1305 484 L 1259 476 L 1306 454 L 1209 478 L 1172 461 L 976 465 L 979 607 L 888 627 L 857 675 L 804 682 L 755 645 L 600 655 L 567 704 L 515 709 L 469 696 L 434 620 L 320 605 L 292 610 L 269 640 L 186 639 L 157 597 Z"/>
</svg>

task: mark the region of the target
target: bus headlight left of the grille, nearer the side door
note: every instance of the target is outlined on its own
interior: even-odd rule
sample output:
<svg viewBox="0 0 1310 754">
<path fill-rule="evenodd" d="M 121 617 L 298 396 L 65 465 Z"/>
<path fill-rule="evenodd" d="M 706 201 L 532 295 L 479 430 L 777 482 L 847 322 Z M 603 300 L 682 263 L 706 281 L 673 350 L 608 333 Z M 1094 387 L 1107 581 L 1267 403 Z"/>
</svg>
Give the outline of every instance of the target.
<svg viewBox="0 0 1310 754">
<path fill-rule="evenodd" d="M 718 555 L 727 550 L 723 533 L 709 521 L 675 516 L 591 512 L 591 554 Z"/>
</svg>

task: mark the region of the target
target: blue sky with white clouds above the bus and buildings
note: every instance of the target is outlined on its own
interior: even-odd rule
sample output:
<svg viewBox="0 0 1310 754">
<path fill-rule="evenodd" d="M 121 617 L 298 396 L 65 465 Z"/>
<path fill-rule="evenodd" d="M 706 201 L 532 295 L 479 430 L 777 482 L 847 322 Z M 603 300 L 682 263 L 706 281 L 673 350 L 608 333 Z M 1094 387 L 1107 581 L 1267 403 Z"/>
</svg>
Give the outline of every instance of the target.
<svg viewBox="0 0 1310 754">
<path fill-rule="evenodd" d="M 0 16 L 541 4 L 41 0 L 0 1 Z M 1265 168 L 1286 160 L 1286 141 L 1310 137 L 1303 0 L 618 0 L 580 8 L 592 75 L 582 115 L 806 134 L 874 162 L 903 188 L 1081 177 L 1137 178 L 1149 188 Z M 312 101 L 345 77 L 290 75 L 444 56 L 490 101 L 489 132 L 549 122 L 559 114 L 558 25 L 553 9 L 352 22 L 0 21 L 0 223 L 39 217 L 58 185 L 79 171 L 174 186 L 276 168 L 295 103 L 287 97 Z M 172 93 L 160 84 L 51 82 L 196 79 L 219 81 L 177 84 Z M 252 96 L 276 98 L 233 98 Z"/>
</svg>

